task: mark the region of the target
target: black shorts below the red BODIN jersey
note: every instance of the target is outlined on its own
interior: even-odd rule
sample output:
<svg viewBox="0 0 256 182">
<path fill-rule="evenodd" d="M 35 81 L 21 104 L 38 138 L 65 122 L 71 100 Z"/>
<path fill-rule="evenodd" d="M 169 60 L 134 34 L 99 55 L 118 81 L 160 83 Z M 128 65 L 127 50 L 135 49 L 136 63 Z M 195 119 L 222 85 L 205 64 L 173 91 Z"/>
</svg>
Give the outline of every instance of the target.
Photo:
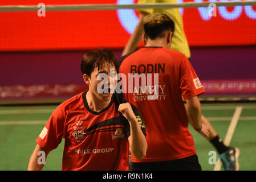
<svg viewBox="0 0 256 182">
<path fill-rule="evenodd" d="M 132 163 L 132 171 L 202 171 L 197 155 L 161 162 Z"/>
</svg>

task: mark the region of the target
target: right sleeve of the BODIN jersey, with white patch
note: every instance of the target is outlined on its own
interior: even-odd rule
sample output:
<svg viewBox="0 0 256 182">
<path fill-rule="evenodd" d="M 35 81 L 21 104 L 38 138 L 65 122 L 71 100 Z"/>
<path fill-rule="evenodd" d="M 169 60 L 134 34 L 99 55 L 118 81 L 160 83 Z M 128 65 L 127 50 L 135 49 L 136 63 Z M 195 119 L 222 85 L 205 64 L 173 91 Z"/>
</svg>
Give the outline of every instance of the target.
<svg viewBox="0 0 256 182">
<path fill-rule="evenodd" d="M 185 100 L 205 92 L 196 72 L 185 55 L 180 64 L 180 90 Z"/>
</svg>

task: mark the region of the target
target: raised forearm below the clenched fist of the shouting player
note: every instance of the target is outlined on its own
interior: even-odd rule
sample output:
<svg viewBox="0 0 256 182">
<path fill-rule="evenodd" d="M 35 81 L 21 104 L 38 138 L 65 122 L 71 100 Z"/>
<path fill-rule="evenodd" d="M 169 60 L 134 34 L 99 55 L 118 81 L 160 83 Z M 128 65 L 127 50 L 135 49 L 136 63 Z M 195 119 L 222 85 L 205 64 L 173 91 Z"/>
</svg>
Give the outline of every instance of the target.
<svg viewBox="0 0 256 182">
<path fill-rule="evenodd" d="M 140 129 L 136 117 L 129 123 L 131 127 L 131 135 L 129 137 L 130 150 L 136 159 L 143 159 L 148 148 L 147 140 Z"/>
</svg>

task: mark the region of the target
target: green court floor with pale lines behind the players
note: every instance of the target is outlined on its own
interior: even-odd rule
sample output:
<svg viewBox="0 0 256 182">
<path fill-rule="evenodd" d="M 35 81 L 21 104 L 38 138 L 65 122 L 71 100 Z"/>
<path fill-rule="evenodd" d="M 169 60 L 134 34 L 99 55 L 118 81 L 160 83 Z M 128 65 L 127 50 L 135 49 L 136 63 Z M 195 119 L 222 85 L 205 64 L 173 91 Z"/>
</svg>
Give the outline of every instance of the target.
<svg viewBox="0 0 256 182">
<path fill-rule="evenodd" d="M 0 107 L 0 170 L 26 170 L 35 139 L 56 106 Z M 237 110 L 240 109 L 240 113 Z M 256 104 L 202 104 L 222 140 L 229 132 L 230 146 L 238 147 L 240 170 L 256 170 Z M 232 121 L 232 122 L 231 122 Z M 237 122 L 236 122 L 237 121 Z M 232 129 L 233 128 L 233 129 Z M 189 126 L 203 170 L 213 170 L 216 150 Z M 51 151 L 43 170 L 61 170 L 64 140 Z M 212 152 L 214 151 L 214 152 Z M 211 154 L 211 155 L 209 155 Z M 217 152 L 216 152 L 217 154 Z M 217 154 L 218 156 L 218 154 Z"/>
</svg>

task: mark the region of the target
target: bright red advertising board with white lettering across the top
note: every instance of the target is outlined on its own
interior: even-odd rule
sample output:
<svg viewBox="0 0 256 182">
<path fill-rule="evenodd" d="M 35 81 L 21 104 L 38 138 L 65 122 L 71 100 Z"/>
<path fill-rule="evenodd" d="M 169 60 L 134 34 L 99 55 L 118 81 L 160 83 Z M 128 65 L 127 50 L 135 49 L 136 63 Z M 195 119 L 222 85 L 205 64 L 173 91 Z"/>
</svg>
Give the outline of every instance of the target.
<svg viewBox="0 0 256 182">
<path fill-rule="evenodd" d="M 120 0 L 2 0 L 0 6 L 38 5 L 42 2 L 45 5 L 121 3 Z M 194 0 L 194 2 L 202 2 L 202 0 Z M 212 17 L 208 15 L 208 7 L 186 8 L 181 11 L 190 46 L 238 46 L 256 43 L 255 6 L 218 7 L 216 16 Z M 46 9 L 46 16 L 38 16 L 36 11 L 1 12 L 0 51 L 123 48 L 130 36 L 131 27 L 136 24 L 136 17 L 129 16 L 131 12 L 134 14 L 134 10 L 131 10 L 123 18 L 121 14 L 124 10 L 47 11 Z M 140 46 L 142 45 L 141 43 Z"/>
</svg>

